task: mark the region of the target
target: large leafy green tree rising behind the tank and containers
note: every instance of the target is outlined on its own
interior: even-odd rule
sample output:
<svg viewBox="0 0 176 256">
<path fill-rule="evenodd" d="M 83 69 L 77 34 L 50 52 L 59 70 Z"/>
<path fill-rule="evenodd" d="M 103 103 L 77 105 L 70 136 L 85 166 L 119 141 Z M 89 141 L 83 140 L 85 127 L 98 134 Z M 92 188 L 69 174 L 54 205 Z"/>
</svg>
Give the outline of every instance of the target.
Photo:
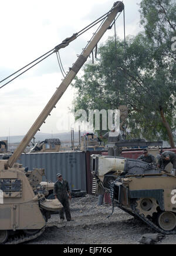
<svg viewBox="0 0 176 256">
<path fill-rule="evenodd" d="M 161 2 L 165 3 L 162 12 Z M 131 137 L 162 138 L 174 147 L 176 90 L 171 36 L 175 5 L 171 2 L 141 1 L 145 32 L 126 39 L 126 55 L 124 42 L 110 38 L 99 48 L 96 64 L 86 65 L 83 77 L 76 78 L 74 86 L 78 89 L 76 109 L 116 109 L 125 104 Z M 153 17 L 155 12 L 158 18 Z"/>
</svg>

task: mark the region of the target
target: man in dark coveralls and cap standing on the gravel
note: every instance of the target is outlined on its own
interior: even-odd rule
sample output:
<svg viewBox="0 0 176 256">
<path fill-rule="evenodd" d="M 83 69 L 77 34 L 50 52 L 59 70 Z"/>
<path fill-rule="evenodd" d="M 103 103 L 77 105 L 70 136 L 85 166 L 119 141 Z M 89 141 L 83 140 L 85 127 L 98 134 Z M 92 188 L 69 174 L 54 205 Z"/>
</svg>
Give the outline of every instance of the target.
<svg viewBox="0 0 176 256">
<path fill-rule="evenodd" d="M 55 195 L 55 198 L 58 198 L 58 200 L 63 205 L 62 210 L 60 210 L 59 212 L 60 220 L 63 221 L 65 219 L 64 218 L 64 211 L 65 211 L 66 220 L 71 221 L 69 199 L 71 199 L 72 197 L 70 194 L 69 184 L 67 181 L 63 180 L 62 174 L 59 173 L 56 176 L 58 180 L 55 182 L 53 194 Z M 69 194 L 69 198 L 68 198 L 68 194 Z"/>
</svg>

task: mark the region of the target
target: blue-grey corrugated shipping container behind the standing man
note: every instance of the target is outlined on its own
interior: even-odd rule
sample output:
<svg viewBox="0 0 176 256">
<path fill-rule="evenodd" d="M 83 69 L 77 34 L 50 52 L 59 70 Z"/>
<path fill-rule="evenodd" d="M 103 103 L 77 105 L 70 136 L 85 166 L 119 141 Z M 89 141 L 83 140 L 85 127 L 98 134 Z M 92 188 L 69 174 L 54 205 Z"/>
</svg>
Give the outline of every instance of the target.
<svg viewBox="0 0 176 256">
<path fill-rule="evenodd" d="M 62 173 L 63 179 L 69 182 L 70 189 L 87 190 L 85 152 L 49 152 L 22 154 L 19 163 L 23 167 L 44 168 L 46 178 L 56 182 L 56 174 Z"/>
</svg>

